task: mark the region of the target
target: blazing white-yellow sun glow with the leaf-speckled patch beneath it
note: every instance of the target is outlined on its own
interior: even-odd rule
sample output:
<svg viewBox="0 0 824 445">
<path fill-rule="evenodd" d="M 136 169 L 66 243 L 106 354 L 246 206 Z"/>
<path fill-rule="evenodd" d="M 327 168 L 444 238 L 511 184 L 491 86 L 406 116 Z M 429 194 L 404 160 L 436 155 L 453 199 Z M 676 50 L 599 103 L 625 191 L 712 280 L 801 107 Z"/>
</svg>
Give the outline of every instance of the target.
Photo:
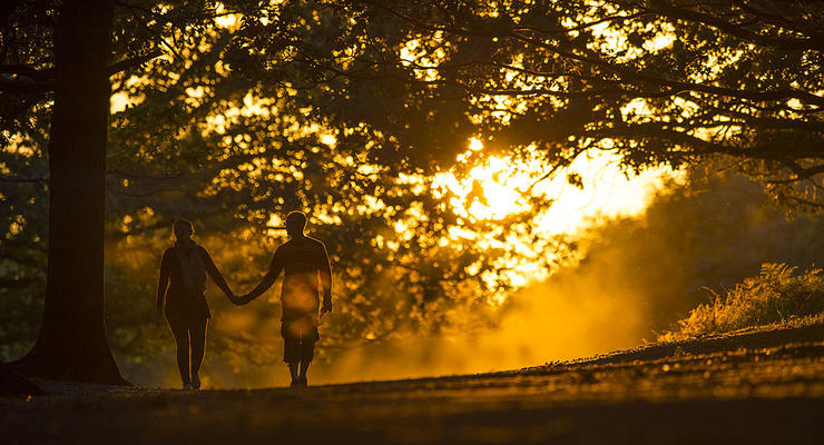
<svg viewBox="0 0 824 445">
<path fill-rule="evenodd" d="M 473 139 L 470 150 L 459 156 L 460 162 L 471 162 L 472 151 L 482 150 L 482 144 Z M 627 177 L 619 167 L 619 158 L 609 151 L 579 156 L 569 167 L 560 169 L 549 178 L 541 179 L 548 166 L 534 158 L 517 160 L 509 157 L 490 156 L 471 167 L 465 177 L 454 171 L 434 177 L 433 194 L 442 197 L 450 194 L 451 210 L 468 222 L 502 224 L 492 229 L 475 231 L 452 226 L 449 238 L 461 244 L 471 244 L 481 249 L 500 249 L 502 254 L 494 265 L 507 270 L 508 283 L 517 288 L 547 278 L 552 273 L 548 258 L 556 254 L 552 239 L 559 235 L 576 236 L 582 229 L 597 225 L 604 218 L 635 216 L 642 212 L 665 178 L 678 179 L 680 174 L 668 168 L 648 169 L 638 176 Z M 471 164 L 470 164 L 471 165 Z M 580 177 L 582 187 L 570 184 L 569 175 Z M 534 209 L 529 198 L 552 201 L 548 208 Z M 508 227 L 504 218 L 533 215 L 529 227 Z M 441 240 L 442 245 L 449 240 Z M 500 278 L 492 271 L 481 277 L 490 286 Z M 493 287 L 493 286 L 491 286 Z M 490 304 L 500 304 L 506 294 L 489 296 Z"/>
</svg>

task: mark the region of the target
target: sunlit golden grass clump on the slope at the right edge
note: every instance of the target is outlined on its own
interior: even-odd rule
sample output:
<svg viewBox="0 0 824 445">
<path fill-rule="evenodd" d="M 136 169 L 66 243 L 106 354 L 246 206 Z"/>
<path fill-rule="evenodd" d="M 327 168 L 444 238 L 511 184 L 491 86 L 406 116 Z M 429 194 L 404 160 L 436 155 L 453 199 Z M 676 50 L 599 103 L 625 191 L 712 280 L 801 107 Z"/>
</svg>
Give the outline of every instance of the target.
<svg viewBox="0 0 824 445">
<path fill-rule="evenodd" d="M 796 267 L 765 263 L 761 274 L 746 278 L 725 296 L 693 309 L 659 342 L 675 342 L 703 335 L 765 325 L 810 325 L 824 322 L 824 276 L 822 269 L 796 274 Z"/>
</svg>

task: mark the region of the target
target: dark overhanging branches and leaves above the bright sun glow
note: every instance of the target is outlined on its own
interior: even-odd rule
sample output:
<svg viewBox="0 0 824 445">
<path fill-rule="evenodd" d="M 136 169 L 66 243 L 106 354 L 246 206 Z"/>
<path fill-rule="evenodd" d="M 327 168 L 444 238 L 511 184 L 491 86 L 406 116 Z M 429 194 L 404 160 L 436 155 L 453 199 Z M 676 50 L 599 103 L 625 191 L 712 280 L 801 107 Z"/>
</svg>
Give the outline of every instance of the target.
<svg viewBox="0 0 824 445">
<path fill-rule="evenodd" d="M 271 81 L 296 69 L 350 106 L 339 118 L 389 138 L 370 155 L 449 160 L 471 122 L 492 148 L 538 148 L 550 171 L 588 150 L 632 170 L 722 159 L 821 208 L 818 4 L 331 1 L 268 17 L 244 23 L 227 60 Z"/>
</svg>

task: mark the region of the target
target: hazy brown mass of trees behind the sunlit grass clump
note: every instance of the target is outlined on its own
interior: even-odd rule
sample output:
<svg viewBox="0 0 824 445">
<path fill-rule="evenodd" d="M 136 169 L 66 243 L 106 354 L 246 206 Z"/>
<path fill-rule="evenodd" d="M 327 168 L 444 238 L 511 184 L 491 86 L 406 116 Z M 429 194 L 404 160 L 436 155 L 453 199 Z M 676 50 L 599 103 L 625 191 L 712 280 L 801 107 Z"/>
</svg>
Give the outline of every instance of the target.
<svg viewBox="0 0 824 445">
<path fill-rule="evenodd" d="M 582 261 L 549 285 L 572 300 L 629 305 L 645 329 L 660 332 L 709 301 L 710 290 L 723 295 L 758 275 L 763 263 L 824 264 L 823 233 L 824 218 L 788 218 L 746 178 L 696 171 L 686 186 L 659 194 L 639 218 L 592 229 Z"/>
</svg>

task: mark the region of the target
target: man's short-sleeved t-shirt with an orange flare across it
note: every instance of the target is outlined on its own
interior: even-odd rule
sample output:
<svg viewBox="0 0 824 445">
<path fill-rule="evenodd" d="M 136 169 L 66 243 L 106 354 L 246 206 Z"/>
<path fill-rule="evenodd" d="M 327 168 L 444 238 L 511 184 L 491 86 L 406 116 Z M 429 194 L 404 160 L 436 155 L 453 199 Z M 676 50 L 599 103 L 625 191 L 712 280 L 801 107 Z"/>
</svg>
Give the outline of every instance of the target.
<svg viewBox="0 0 824 445">
<path fill-rule="evenodd" d="M 271 269 L 284 271 L 281 301 L 283 320 L 305 319 L 317 325 L 317 275 L 331 275 L 326 247 L 317 239 L 293 238 L 281 245 L 272 257 Z"/>
</svg>

